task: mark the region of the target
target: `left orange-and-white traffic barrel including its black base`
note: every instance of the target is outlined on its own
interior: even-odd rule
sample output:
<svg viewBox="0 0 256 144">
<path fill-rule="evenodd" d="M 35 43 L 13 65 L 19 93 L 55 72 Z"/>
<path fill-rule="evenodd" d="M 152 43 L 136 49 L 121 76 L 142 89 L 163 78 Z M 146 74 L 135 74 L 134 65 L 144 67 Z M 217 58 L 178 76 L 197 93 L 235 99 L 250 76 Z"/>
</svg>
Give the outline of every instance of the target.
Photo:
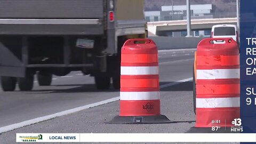
<svg viewBox="0 0 256 144">
<path fill-rule="evenodd" d="M 170 123 L 160 110 L 156 44 L 128 39 L 121 54 L 120 111 L 110 123 Z"/>
</svg>

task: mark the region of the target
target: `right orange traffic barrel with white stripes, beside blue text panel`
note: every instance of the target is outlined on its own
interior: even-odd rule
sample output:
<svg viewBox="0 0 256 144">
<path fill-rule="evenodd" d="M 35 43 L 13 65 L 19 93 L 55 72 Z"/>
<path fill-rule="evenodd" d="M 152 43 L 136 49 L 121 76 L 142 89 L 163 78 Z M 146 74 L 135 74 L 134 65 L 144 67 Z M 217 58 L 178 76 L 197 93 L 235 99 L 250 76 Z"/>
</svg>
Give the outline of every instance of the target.
<svg viewBox="0 0 256 144">
<path fill-rule="evenodd" d="M 231 38 L 206 38 L 196 52 L 196 125 L 225 130 L 240 117 L 239 47 Z M 230 132 L 230 130 L 229 130 Z"/>
</svg>

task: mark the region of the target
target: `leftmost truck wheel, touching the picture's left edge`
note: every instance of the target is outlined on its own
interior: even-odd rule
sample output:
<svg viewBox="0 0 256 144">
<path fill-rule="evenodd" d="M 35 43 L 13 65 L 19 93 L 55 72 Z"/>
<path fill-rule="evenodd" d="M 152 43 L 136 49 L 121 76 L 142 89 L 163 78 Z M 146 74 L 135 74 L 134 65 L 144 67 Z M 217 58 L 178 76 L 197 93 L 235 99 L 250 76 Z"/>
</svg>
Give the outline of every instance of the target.
<svg viewBox="0 0 256 144">
<path fill-rule="evenodd" d="M 14 91 L 17 83 L 17 78 L 9 76 L 1 76 L 1 86 L 3 91 Z"/>
</svg>

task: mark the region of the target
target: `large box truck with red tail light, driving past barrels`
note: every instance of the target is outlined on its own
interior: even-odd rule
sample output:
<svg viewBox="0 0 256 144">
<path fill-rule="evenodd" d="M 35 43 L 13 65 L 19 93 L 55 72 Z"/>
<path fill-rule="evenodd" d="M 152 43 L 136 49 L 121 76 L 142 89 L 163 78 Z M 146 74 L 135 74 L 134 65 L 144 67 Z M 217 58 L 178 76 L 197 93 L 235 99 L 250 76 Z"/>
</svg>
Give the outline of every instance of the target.
<svg viewBox="0 0 256 144">
<path fill-rule="evenodd" d="M 82 71 L 98 89 L 120 87 L 123 43 L 147 37 L 143 0 L 0 0 L 3 91 L 33 89 Z"/>
</svg>

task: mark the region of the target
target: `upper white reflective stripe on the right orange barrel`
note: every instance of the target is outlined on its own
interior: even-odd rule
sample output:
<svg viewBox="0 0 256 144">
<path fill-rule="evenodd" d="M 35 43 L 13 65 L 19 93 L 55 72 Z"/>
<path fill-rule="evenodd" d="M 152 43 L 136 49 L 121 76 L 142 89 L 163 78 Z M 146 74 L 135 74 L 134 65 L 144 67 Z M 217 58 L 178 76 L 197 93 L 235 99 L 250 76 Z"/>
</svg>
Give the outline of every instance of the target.
<svg viewBox="0 0 256 144">
<path fill-rule="evenodd" d="M 197 69 L 196 79 L 240 78 L 240 69 Z"/>
</svg>

